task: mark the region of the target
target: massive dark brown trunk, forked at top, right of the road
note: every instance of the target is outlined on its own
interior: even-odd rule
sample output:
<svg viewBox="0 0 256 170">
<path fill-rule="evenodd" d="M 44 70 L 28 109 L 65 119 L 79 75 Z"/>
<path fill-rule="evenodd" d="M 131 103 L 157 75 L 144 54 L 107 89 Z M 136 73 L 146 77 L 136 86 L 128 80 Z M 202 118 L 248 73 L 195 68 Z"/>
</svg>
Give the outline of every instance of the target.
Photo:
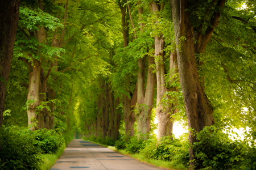
<svg viewBox="0 0 256 170">
<path fill-rule="evenodd" d="M 225 0 L 217 1 L 217 8 L 221 10 Z M 214 28 L 218 25 L 220 11 L 214 12 L 210 26 L 205 33 L 195 33 L 189 20 L 188 1 L 171 0 L 172 19 L 176 39 L 177 63 L 179 67 L 180 85 L 183 91 L 188 127 L 199 132 L 205 126 L 214 124 L 213 108 L 205 95 L 197 73 L 196 52 L 204 52 Z M 207 14 L 206 14 L 207 15 Z M 196 40 L 196 41 L 195 41 Z M 196 44 L 194 44 L 196 42 Z M 189 142 L 197 142 L 196 135 L 189 132 Z M 190 160 L 194 159 L 195 150 L 189 149 Z M 194 163 L 191 162 L 193 167 Z M 199 169 L 200 167 L 195 167 Z"/>
</svg>

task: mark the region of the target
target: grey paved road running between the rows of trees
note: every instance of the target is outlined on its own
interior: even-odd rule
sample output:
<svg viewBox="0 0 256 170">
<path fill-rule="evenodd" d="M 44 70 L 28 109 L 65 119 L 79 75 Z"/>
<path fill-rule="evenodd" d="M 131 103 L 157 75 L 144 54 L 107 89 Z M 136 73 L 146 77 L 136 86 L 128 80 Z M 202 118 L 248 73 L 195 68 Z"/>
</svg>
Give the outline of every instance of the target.
<svg viewBox="0 0 256 170">
<path fill-rule="evenodd" d="M 109 148 L 82 139 L 73 139 L 50 170 L 65 169 L 159 170 L 160 168 L 139 162 Z"/>
</svg>

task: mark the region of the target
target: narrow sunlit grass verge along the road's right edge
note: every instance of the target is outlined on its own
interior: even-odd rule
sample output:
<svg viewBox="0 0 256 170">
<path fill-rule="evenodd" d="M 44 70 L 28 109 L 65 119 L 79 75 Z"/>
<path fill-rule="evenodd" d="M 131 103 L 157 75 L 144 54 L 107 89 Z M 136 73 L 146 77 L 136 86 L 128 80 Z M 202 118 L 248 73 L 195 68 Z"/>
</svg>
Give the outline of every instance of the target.
<svg viewBox="0 0 256 170">
<path fill-rule="evenodd" d="M 83 139 L 83 138 L 82 138 L 82 139 Z M 83 139 L 83 140 L 89 141 L 88 139 Z M 141 161 L 141 162 L 154 165 L 155 167 L 164 168 L 164 169 L 171 169 L 171 170 L 184 170 L 184 169 L 180 169 L 180 168 L 178 168 L 178 167 L 175 167 L 175 168 L 172 167 L 172 166 L 171 166 L 171 162 L 168 162 L 168 161 L 165 161 L 165 160 L 148 159 L 148 158 L 146 158 L 145 156 L 143 156 L 143 155 L 141 155 L 141 154 L 139 154 L 139 153 L 138 153 L 138 154 L 130 154 L 130 153 L 127 152 L 126 150 L 117 150 L 117 148 L 115 148 L 114 146 L 102 145 L 102 143 L 98 143 L 98 142 L 95 142 L 95 141 L 89 141 L 89 142 L 96 143 L 96 144 L 98 144 L 98 145 L 107 147 L 107 148 L 109 148 L 110 150 L 119 152 L 119 153 L 122 154 L 122 155 L 129 156 L 130 158 L 137 159 L 137 160 L 139 160 L 139 161 Z"/>
</svg>

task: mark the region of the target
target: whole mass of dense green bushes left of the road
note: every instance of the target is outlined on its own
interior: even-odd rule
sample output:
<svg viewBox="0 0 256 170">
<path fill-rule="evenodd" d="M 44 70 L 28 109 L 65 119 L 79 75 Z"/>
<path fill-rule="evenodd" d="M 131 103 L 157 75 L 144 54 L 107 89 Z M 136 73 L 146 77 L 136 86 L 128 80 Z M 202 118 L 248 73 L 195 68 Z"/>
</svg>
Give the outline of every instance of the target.
<svg viewBox="0 0 256 170">
<path fill-rule="evenodd" d="M 2 169 L 40 169 L 42 154 L 54 154 L 71 141 L 65 143 L 63 134 L 55 130 L 31 131 L 18 126 L 3 126 L 0 135 Z"/>
</svg>

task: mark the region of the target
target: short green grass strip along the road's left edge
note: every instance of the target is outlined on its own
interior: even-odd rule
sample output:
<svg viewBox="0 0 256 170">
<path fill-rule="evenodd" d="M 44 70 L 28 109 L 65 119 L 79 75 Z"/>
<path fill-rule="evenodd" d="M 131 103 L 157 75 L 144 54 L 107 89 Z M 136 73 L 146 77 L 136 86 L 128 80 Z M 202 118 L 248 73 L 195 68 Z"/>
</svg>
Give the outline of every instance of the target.
<svg viewBox="0 0 256 170">
<path fill-rule="evenodd" d="M 40 164 L 41 170 L 49 170 L 56 160 L 60 158 L 64 150 L 65 146 L 62 146 L 57 150 L 56 154 L 42 154 L 43 163 Z"/>
</svg>

